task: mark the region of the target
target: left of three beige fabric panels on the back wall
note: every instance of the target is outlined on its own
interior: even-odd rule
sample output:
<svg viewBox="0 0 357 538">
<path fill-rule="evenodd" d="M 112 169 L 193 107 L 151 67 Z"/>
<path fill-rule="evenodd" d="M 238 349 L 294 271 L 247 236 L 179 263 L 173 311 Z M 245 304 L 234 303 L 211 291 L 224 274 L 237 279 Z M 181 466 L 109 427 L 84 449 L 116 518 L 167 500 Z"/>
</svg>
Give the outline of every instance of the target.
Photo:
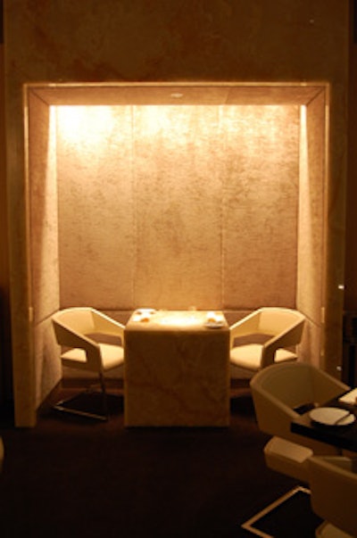
<svg viewBox="0 0 357 538">
<path fill-rule="evenodd" d="M 61 306 L 131 308 L 130 108 L 59 107 L 57 114 Z"/>
</svg>

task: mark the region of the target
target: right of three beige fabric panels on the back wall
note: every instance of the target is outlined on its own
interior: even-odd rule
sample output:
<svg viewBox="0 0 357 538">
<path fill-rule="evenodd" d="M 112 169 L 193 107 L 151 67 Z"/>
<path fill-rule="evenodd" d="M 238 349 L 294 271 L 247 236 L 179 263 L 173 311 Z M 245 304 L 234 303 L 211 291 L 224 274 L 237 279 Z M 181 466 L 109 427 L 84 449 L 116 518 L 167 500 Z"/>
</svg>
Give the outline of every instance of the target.
<svg viewBox="0 0 357 538">
<path fill-rule="evenodd" d="M 224 308 L 295 306 L 297 107 L 241 107 L 226 132 Z"/>
</svg>

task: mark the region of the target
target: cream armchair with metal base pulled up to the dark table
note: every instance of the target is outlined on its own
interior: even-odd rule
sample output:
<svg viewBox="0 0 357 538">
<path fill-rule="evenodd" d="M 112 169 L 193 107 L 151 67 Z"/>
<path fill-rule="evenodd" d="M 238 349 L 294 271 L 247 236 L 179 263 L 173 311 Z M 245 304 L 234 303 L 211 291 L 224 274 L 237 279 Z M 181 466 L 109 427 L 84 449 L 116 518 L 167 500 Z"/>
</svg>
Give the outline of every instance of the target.
<svg viewBox="0 0 357 538">
<path fill-rule="evenodd" d="M 299 416 L 297 409 L 301 406 L 324 403 L 345 393 L 349 387 L 322 370 L 298 361 L 263 368 L 253 376 L 250 386 L 258 426 L 265 434 L 272 435 L 264 447 L 267 467 L 309 484 L 309 462 L 314 454 L 336 456 L 339 451 L 328 444 L 293 434 L 291 421 Z M 302 491 L 309 493 L 305 487 L 295 487 L 246 521 L 243 527 L 252 532 L 260 517 Z"/>
</svg>

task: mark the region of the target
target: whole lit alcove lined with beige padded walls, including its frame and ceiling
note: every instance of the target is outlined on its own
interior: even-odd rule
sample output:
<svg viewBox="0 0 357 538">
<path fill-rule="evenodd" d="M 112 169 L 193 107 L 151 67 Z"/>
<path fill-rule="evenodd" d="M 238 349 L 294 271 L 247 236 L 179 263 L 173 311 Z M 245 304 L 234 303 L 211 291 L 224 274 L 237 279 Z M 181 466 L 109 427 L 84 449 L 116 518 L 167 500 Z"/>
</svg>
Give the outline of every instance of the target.
<svg viewBox="0 0 357 538">
<path fill-rule="evenodd" d="M 298 308 L 320 363 L 328 85 L 29 84 L 25 110 L 36 405 L 68 306 Z"/>
</svg>

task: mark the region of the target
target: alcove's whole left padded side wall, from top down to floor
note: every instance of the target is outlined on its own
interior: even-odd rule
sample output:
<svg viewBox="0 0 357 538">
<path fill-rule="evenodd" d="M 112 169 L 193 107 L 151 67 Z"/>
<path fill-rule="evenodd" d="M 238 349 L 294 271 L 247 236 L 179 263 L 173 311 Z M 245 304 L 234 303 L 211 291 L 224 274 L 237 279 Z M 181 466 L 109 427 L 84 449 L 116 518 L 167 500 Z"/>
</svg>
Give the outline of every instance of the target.
<svg viewBox="0 0 357 538">
<path fill-rule="evenodd" d="M 30 95 L 29 220 L 36 405 L 61 378 L 50 316 L 60 307 L 55 123 L 46 103 Z"/>
</svg>

